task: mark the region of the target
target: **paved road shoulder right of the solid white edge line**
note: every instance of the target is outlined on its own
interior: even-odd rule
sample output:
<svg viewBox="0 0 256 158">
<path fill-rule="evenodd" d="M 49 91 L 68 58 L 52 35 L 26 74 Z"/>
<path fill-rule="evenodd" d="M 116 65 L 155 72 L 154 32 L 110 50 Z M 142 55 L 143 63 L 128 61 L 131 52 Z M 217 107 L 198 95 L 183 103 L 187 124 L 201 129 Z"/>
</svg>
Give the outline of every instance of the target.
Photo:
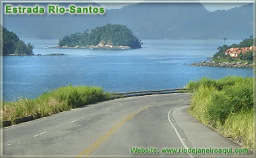
<svg viewBox="0 0 256 158">
<path fill-rule="evenodd" d="M 199 123 L 188 112 L 189 106 L 174 108 L 170 117 L 188 148 L 241 149 L 242 147 L 226 139 L 213 129 Z M 243 154 L 244 155 L 244 154 Z M 248 155 L 248 153 L 247 153 Z"/>
</svg>

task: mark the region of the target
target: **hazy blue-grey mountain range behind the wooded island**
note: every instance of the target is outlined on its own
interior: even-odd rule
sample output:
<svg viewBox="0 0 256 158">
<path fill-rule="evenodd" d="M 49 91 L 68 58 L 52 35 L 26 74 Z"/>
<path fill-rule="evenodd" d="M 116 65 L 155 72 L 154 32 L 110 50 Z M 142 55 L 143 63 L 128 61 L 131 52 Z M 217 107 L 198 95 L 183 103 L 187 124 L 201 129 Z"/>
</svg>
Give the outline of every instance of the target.
<svg viewBox="0 0 256 158">
<path fill-rule="evenodd" d="M 127 25 L 141 39 L 244 39 L 253 35 L 253 3 L 214 12 L 201 3 L 137 3 L 104 15 L 3 16 L 20 37 L 61 38 L 106 23 Z"/>
</svg>

